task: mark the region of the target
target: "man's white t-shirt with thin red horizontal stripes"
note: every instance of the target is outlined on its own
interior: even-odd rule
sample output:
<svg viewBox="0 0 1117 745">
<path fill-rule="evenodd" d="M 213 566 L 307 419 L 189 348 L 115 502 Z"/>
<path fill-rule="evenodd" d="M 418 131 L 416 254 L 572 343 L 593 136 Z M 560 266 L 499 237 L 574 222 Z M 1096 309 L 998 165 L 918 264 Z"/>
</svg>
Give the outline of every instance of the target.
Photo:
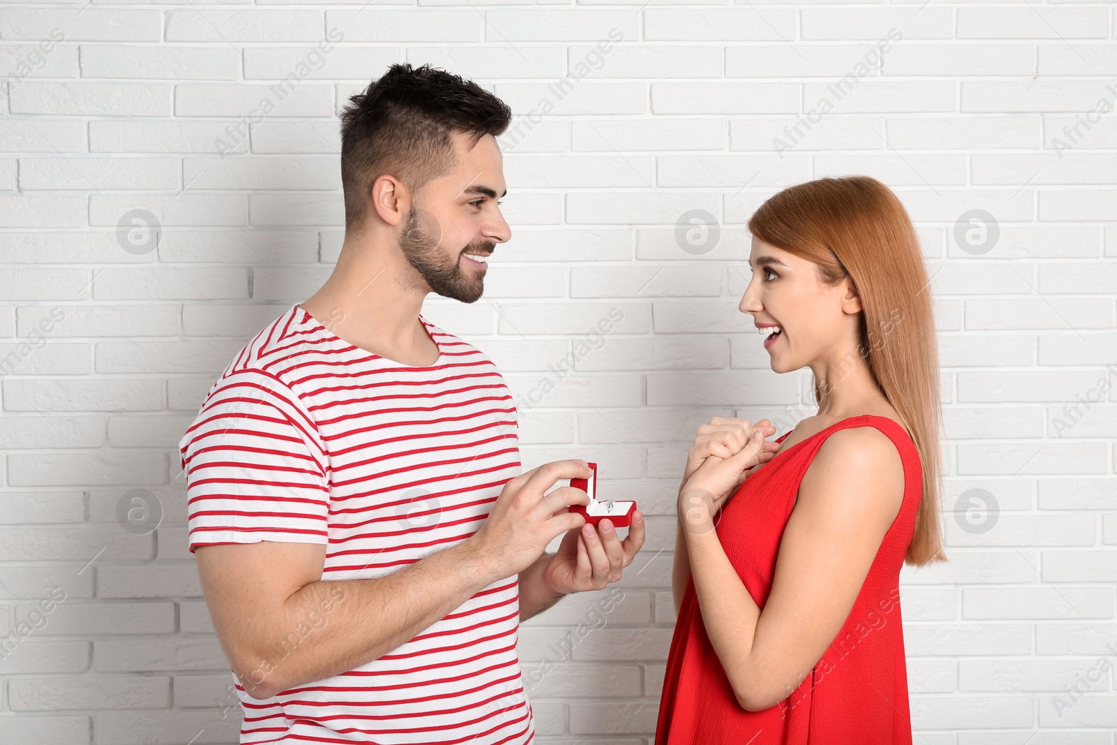
<svg viewBox="0 0 1117 745">
<path fill-rule="evenodd" d="M 179 443 L 191 552 L 319 543 L 322 579 L 354 580 L 398 571 L 477 532 L 522 470 L 515 407 L 487 356 L 419 321 L 439 350 L 427 366 L 355 347 L 297 304 L 237 354 Z M 264 700 L 233 676 L 240 742 L 527 743 L 534 720 L 518 629 L 513 575 L 342 675 Z M 289 651 L 273 648 L 278 665 Z"/>
</svg>

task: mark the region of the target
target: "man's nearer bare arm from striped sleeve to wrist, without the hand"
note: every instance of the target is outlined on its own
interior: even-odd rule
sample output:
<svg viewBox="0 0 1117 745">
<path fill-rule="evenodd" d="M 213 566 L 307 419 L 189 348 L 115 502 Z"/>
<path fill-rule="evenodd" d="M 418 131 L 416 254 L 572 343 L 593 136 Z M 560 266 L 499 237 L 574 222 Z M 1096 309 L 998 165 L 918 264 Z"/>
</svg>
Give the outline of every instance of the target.
<svg viewBox="0 0 1117 745">
<path fill-rule="evenodd" d="M 221 648 L 252 698 L 374 660 L 496 581 L 469 542 L 371 580 L 321 580 L 321 544 L 264 541 L 194 553 Z"/>
</svg>

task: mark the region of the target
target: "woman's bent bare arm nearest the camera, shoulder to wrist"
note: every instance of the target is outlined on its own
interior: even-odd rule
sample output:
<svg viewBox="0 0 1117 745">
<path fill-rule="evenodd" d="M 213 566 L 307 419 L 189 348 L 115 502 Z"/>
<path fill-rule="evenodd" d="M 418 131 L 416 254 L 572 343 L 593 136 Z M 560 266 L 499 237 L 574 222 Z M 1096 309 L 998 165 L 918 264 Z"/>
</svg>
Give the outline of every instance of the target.
<svg viewBox="0 0 1117 745">
<path fill-rule="evenodd" d="M 779 704 L 818 663 L 903 497 L 904 466 L 884 432 L 862 427 L 827 438 L 800 484 L 763 611 L 713 526 L 685 532 L 703 621 L 743 708 Z"/>
</svg>

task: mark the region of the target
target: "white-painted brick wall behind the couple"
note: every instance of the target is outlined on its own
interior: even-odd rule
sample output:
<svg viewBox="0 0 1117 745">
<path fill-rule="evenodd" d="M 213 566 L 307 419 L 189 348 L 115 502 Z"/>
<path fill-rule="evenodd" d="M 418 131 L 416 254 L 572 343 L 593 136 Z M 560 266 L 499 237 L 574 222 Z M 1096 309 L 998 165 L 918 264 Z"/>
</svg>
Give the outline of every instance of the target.
<svg viewBox="0 0 1117 745">
<path fill-rule="evenodd" d="M 569 644 L 603 593 L 523 627 L 537 742 L 650 742 L 694 431 L 811 413 L 809 373 L 773 374 L 736 311 L 744 222 L 782 187 L 868 173 L 935 273 L 947 506 L 983 489 L 999 509 L 985 532 L 946 515 L 952 561 L 904 572 L 915 741 L 1114 745 L 1117 9 L 418 6 L 0 10 L 0 637 L 17 640 L 0 742 L 237 742 L 175 445 L 230 355 L 328 275 L 336 114 L 405 60 L 476 78 L 518 115 L 502 139 L 513 240 L 481 302 L 432 297 L 427 314 L 504 371 L 526 468 L 592 456 L 648 514 L 600 628 Z M 720 229 L 700 256 L 675 237 L 694 209 Z M 955 238 L 972 209 L 999 229 L 984 254 Z M 133 210 L 159 221 L 157 250 L 143 230 L 124 239 Z M 560 371 L 614 308 L 604 343 Z M 528 402 L 546 378 L 555 390 Z M 154 495 L 154 532 L 118 522 L 132 489 Z"/>
</svg>

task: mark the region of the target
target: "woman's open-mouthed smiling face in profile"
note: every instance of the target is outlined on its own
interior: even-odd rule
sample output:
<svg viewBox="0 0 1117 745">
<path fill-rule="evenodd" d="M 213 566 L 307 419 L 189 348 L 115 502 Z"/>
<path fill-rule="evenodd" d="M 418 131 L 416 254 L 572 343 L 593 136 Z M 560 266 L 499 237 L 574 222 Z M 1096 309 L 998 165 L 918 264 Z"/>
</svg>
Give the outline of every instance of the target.
<svg viewBox="0 0 1117 745">
<path fill-rule="evenodd" d="M 738 307 L 756 325 L 781 328 L 772 342 L 765 341 L 767 329 L 757 338 L 773 371 L 792 372 L 820 362 L 824 370 L 831 352 L 857 345 L 857 318 L 851 314 L 861 309 L 861 303 L 848 277 L 827 287 L 819 281 L 817 264 L 756 238 L 748 265 L 753 276 Z"/>
</svg>

